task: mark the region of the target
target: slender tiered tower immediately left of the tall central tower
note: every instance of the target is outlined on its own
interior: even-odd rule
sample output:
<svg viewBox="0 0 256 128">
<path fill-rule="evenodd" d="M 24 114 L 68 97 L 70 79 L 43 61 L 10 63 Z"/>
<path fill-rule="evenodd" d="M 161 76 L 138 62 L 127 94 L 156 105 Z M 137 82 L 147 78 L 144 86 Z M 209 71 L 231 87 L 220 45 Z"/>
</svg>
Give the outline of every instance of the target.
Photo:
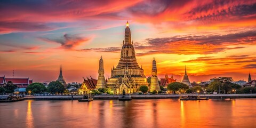
<svg viewBox="0 0 256 128">
<path fill-rule="evenodd" d="M 102 56 L 100 57 L 100 62 L 99 62 L 99 77 L 98 77 L 98 81 L 97 81 L 97 85 L 95 89 L 99 89 L 99 88 L 106 88 L 107 83 L 106 83 L 106 79 L 104 76 L 104 68 L 103 68 L 103 60 L 102 60 Z"/>
</svg>

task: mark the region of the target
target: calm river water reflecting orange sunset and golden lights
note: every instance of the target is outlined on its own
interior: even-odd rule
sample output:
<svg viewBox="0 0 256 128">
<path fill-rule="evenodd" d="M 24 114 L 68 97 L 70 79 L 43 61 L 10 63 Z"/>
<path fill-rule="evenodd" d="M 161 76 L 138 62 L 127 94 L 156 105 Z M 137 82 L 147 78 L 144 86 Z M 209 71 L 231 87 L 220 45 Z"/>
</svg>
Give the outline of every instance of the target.
<svg viewBox="0 0 256 128">
<path fill-rule="evenodd" d="M 256 127 L 256 99 L 0 103 L 0 127 Z"/>
</svg>

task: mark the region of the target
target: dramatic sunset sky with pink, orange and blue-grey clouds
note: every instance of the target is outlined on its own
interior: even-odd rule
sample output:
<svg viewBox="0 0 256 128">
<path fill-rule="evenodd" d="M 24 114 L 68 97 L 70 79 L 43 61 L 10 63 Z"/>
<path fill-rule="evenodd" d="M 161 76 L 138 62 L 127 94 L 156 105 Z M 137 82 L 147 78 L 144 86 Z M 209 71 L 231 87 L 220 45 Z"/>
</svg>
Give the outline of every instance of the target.
<svg viewBox="0 0 256 128">
<path fill-rule="evenodd" d="M 129 21 L 144 74 L 256 78 L 256 1 L 0 1 L 0 76 L 66 82 L 117 66 Z"/>
</svg>

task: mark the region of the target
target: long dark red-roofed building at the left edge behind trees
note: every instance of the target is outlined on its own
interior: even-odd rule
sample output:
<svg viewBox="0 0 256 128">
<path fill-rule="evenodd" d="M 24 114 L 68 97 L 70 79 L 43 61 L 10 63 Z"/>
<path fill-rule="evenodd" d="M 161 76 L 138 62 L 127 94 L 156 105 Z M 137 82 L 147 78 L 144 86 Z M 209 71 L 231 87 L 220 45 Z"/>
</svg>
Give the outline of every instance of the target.
<svg viewBox="0 0 256 128">
<path fill-rule="evenodd" d="M 20 88 L 26 88 L 29 84 L 33 83 L 33 80 L 29 78 L 5 78 L 5 76 L 0 77 L 1 86 L 5 86 L 9 81 Z"/>
</svg>

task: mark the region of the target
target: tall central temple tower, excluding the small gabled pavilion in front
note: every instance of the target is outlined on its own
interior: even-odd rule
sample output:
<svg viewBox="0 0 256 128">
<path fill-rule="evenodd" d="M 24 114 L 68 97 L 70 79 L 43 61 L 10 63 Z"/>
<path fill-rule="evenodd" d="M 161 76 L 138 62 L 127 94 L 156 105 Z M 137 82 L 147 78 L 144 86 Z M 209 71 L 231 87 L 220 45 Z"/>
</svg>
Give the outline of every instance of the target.
<svg viewBox="0 0 256 128">
<path fill-rule="evenodd" d="M 117 88 L 119 87 L 119 85 L 117 81 L 119 78 L 124 77 L 126 62 L 129 74 L 131 75 L 131 79 L 133 79 L 135 82 L 136 91 L 138 91 L 139 86 L 148 85 L 147 78 L 144 75 L 144 70 L 142 69 L 142 67 L 139 67 L 138 62 L 135 58 L 135 50 L 133 47 L 133 41 L 131 40 L 131 30 L 129 28 L 128 21 L 125 28 L 121 58 L 116 68 L 113 67 L 113 69 L 111 69 L 111 77 L 108 79 L 107 83 L 107 86 L 110 87 L 110 89 L 113 89 L 114 93 L 118 93 Z"/>
</svg>

